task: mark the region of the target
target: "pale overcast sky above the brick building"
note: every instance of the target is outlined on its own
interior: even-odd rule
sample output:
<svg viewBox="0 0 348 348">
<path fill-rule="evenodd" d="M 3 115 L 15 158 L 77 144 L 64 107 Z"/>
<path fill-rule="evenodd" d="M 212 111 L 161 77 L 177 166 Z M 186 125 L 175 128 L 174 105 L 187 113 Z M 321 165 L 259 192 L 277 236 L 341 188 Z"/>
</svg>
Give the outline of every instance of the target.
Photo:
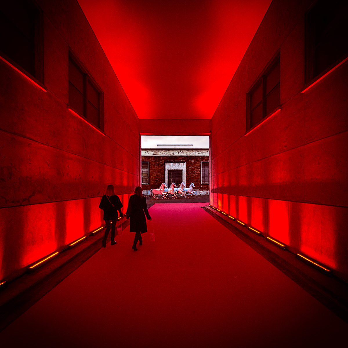
<svg viewBox="0 0 348 348">
<path fill-rule="evenodd" d="M 157 144 L 193 144 L 192 149 L 209 149 L 208 135 L 142 135 L 142 149 L 157 149 Z"/>
</svg>

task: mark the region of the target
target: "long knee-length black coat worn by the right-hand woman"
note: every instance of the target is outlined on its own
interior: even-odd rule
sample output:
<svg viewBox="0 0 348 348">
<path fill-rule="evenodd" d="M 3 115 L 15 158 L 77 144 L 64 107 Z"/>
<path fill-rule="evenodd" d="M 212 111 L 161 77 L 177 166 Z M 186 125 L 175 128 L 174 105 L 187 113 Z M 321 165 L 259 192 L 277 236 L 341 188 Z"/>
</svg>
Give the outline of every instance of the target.
<svg viewBox="0 0 348 348">
<path fill-rule="evenodd" d="M 146 206 L 146 198 L 138 195 L 130 196 L 126 213 L 127 219 L 130 218 L 129 232 L 145 233 L 148 231 L 145 214 L 150 220 L 151 216 Z"/>
</svg>

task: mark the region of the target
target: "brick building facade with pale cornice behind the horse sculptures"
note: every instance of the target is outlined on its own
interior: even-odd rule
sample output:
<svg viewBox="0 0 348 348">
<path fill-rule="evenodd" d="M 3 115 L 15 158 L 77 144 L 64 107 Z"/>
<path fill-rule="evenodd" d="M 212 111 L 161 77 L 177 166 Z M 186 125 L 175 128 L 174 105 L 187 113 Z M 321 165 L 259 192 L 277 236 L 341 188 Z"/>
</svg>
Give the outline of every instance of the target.
<svg viewBox="0 0 348 348">
<path fill-rule="evenodd" d="M 195 190 L 209 191 L 208 149 L 142 149 L 142 188 L 159 188 L 165 182 L 170 185 L 181 181 Z M 170 181 L 170 182 L 169 182 Z"/>
</svg>

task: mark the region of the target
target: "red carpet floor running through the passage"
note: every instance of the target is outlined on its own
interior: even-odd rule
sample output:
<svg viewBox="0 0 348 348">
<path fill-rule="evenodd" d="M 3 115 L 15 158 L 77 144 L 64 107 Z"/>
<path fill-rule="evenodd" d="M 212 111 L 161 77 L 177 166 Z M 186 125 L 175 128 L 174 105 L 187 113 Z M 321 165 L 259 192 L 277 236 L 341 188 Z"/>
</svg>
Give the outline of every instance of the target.
<svg viewBox="0 0 348 348">
<path fill-rule="evenodd" d="M 347 343 L 346 323 L 202 205 L 152 206 L 155 242 L 143 234 L 144 243 L 134 252 L 128 227 L 116 245 L 109 242 L 2 331 L 0 346 L 298 348 Z"/>
</svg>

